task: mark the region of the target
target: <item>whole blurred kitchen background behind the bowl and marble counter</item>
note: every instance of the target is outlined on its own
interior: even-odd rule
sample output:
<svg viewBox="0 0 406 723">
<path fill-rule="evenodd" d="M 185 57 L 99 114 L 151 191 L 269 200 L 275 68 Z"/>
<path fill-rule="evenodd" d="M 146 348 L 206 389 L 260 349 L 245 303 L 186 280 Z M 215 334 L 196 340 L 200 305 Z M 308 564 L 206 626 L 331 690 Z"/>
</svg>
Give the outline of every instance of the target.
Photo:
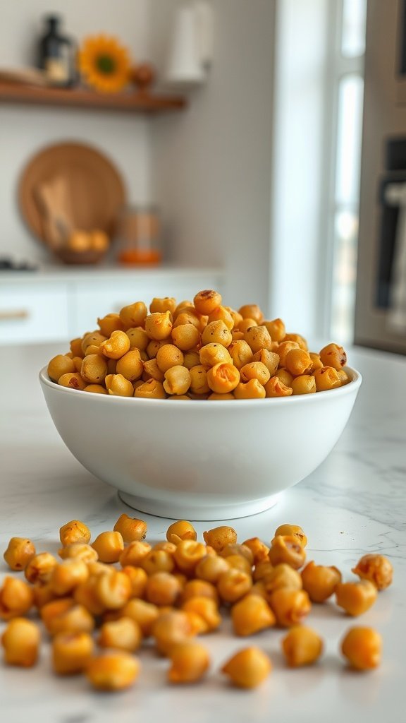
<svg viewBox="0 0 406 723">
<path fill-rule="evenodd" d="M 1 3 L 0 343 L 215 287 L 309 340 L 406 353 L 405 17 Z"/>
</svg>

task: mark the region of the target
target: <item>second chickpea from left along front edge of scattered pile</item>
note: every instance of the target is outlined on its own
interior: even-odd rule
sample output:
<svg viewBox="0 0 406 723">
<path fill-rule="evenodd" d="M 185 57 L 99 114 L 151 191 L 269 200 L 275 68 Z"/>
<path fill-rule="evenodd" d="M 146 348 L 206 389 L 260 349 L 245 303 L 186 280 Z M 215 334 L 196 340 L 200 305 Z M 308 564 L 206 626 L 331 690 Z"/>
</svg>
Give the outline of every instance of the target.
<svg viewBox="0 0 406 723">
<path fill-rule="evenodd" d="M 52 667 L 58 675 L 82 672 L 92 658 L 94 643 L 89 633 L 58 633 L 52 641 Z"/>
</svg>

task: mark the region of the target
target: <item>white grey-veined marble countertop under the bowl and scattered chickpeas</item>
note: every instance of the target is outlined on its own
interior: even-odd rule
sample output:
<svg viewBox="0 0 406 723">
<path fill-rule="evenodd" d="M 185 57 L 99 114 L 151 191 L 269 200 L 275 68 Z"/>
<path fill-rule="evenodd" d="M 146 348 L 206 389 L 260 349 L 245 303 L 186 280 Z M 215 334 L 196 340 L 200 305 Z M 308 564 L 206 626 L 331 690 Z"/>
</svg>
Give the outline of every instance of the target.
<svg viewBox="0 0 406 723">
<path fill-rule="evenodd" d="M 29 536 L 38 551 L 58 549 L 59 527 L 82 519 L 94 536 L 111 529 L 129 508 L 116 491 L 83 469 L 65 448 L 51 422 L 38 370 L 60 346 L 0 348 L 0 549 L 11 536 Z M 0 719 L 4 723 L 179 723 L 368 721 L 392 723 L 405 711 L 406 636 L 406 359 L 353 349 L 350 365 L 363 386 L 340 441 L 319 469 L 289 489 L 275 508 L 233 521 L 240 539 L 266 542 L 283 522 L 300 524 L 308 536 L 308 560 L 337 565 L 345 578 L 366 552 L 381 552 L 394 565 L 394 583 L 358 619 L 334 604 L 314 605 L 308 624 L 324 637 L 324 656 L 314 667 L 290 670 L 280 654 L 282 630 L 233 638 L 229 628 L 207 638 L 212 671 L 199 685 L 170 687 L 165 659 L 142 651 L 142 672 L 124 693 L 98 694 L 84 677 L 51 673 L 48 645 L 33 669 L 0 663 Z M 148 538 L 165 539 L 168 521 L 147 520 Z M 220 524 L 220 523 L 215 523 Z M 196 523 L 199 535 L 210 523 Z M 7 574 L 0 562 L 0 577 Z M 381 667 L 350 672 L 338 652 L 350 625 L 371 625 L 383 636 Z M 0 625 L 0 632 L 4 624 Z M 273 671 L 261 688 L 230 688 L 218 673 L 232 651 L 262 646 Z"/>
</svg>

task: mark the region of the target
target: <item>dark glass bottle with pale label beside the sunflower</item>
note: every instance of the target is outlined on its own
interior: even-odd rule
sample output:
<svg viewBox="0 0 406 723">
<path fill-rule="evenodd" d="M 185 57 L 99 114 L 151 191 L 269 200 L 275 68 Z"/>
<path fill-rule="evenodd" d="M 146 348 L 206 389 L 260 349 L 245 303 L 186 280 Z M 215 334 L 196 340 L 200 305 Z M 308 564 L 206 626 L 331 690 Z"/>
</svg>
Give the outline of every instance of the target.
<svg viewBox="0 0 406 723">
<path fill-rule="evenodd" d="M 46 34 L 40 40 L 39 67 L 51 85 L 67 87 L 74 82 L 74 43 L 59 32 L 59 17 L 46 17 Z"/>
</svg>

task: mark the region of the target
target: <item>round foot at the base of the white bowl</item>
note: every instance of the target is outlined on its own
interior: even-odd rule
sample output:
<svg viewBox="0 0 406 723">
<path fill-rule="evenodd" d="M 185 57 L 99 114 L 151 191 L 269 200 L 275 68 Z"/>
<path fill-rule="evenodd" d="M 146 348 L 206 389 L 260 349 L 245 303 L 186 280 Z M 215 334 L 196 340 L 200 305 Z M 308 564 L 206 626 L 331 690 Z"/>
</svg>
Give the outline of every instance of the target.
<svg viewBox="0 0 406 723">
<path fill-rule="evenodd" d="M 239 517 L 257 515 L 276 505 L 280 495 L 281 493 L 249 502 L 210 505 L 207 502 L 188 502 L 184 498 L 176 502 L 148 500 L 146 497 L 137 497 L 137 495 L 129 495 L 128 492 L 118 491 L 120 500 L 134 510 L 171 520 L 186 519 L 191 521 L 234 520 Z"/>
</svg>

